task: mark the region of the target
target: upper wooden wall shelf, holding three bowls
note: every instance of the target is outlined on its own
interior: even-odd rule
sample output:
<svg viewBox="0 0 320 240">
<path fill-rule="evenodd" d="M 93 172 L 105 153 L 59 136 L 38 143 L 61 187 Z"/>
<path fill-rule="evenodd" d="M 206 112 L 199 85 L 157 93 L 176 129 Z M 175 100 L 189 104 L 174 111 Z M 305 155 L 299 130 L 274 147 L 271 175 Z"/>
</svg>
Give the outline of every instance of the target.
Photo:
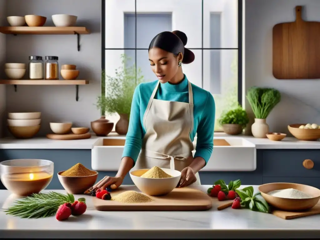
<svg viewBox="0 0 320 240">
<path fill-rule="evenodd" d="M 90 34 L 85 27 L 0 27 L 4 34 Z"/>
</svg>

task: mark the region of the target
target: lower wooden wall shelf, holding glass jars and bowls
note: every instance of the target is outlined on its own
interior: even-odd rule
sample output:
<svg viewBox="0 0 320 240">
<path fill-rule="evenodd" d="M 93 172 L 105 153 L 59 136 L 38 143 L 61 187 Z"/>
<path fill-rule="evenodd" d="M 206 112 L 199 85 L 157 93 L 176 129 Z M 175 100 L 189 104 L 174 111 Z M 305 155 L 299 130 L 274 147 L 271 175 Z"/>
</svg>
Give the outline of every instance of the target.
<svg viewBox="0 0 320 240">
<path fill-rule="evenodd" d="M 0 84 L 11 85 L 85 85 L 88 80 L 0 80 Z"/>
</svg>

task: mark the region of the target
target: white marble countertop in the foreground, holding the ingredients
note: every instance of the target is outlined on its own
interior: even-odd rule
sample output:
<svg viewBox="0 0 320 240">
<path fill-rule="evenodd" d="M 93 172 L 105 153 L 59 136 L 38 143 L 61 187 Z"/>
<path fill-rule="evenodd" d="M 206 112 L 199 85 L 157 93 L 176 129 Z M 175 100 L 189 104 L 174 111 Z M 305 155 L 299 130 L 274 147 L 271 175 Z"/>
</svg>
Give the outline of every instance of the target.
<svg viewBox="0 0 320 240">
<path fill-rule="evenodd" d="M 206 192 L 211 187 L 197 188 Z M 241 188 L 246 186 L 241 186 Z M 258 186 L 253 186 L 257 191 Z M 47 191 L 47 190 L 45 190 Z M 44 191 L 44 192 L 45 192 Z M 52 190 L 66 193 L 64 190 Z M 80 195 L 75 195 L 77 199 Z M 0 190 L 0 206 L 14 200 Z M 100 212 L 86 196 L 87 211 L 80 217 L 57 221 L 55 217 L 20 219 L 0 210 L 1 238 L 318 238 L 320 215 L 284 220 L 272 214 L 248 209 L 222 211 L 214 201 L 207 211 L 188 212 Z"/>
</svg>

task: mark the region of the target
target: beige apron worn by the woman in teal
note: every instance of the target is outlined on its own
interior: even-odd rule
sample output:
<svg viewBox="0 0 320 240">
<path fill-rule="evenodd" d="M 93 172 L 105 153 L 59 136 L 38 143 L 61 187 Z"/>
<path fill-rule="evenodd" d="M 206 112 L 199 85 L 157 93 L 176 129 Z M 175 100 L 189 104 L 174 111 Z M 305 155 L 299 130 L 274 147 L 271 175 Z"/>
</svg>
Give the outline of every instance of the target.
<svg viewBox="0 0 320 240">
<path fill-rule="evenodd" d="M 193 94 L 188 81 L 189 103 L 154 99 L 160 81 L 152 92 L 143 125 L 146 134 L 134 169 L 170 168 L 182 171 L 193 161 Z M 194 185 L 200 185 L 196 173 Z"/>
</svg>

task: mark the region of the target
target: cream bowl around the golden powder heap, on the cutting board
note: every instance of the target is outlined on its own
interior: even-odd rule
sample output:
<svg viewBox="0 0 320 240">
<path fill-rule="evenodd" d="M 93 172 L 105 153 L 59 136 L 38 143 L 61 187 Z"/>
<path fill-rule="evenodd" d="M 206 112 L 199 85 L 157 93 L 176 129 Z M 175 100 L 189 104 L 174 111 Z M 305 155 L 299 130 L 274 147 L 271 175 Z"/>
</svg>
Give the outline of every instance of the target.
<svg viewBox="0 0 320 240">
<path fill-rule="evenodd" d="M 139 169 L 130 172 L 130 177 L 134 185 L 139 190 L 150 196 L 160 196 L 170 193 L 175 187 L 181 177 L 181 172 L 177 170 L 161 168 L 164 172 L 171 175 L 172 178 L 142 178 L 140 177 L 143 173 L 149 169 Z"/>
</svg>

